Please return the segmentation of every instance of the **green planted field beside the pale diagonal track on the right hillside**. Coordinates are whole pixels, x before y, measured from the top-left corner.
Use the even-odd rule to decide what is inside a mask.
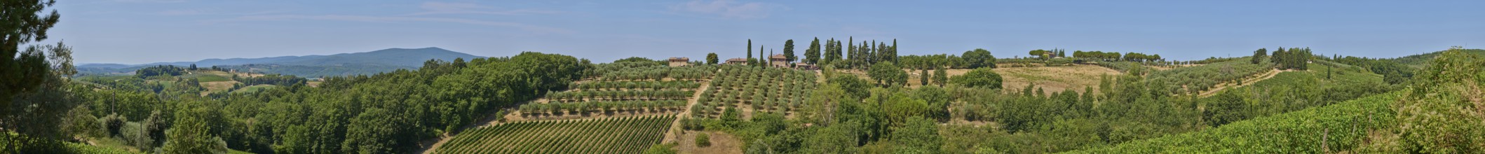
[[[1172,84],[1170,93],[1200,93],[1216,84],[1243,80],[1244,77],[1273,70],[1273,64],[1250,64],[1247,61],[1227,61],[1200,67],[1182,67],[1149,74],[1149,80]]]

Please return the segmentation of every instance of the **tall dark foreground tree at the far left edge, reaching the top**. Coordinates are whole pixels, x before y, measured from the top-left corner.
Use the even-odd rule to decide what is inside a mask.
[[[74,105],[65,101],[62,89],[67,81],[59,76],[71,76],[71,47],[22,44],[46,40],[46,31],[61,18],[52,7],[53,0],[7,0],[0,7],[0,129],[37,138],[59,138],[59,121]],[[49,56],[50,55],[50,56]],[[58,93],[61,92],[61,93]],[[21,107],[21,108],[18,108]],[[25,108],[39,107],[39,108]],[[4,138],[0,138],[4,139]],[[21,139],[4,139],[4,150],[18,145]],[[12,151],[16,153],[16,151]]]

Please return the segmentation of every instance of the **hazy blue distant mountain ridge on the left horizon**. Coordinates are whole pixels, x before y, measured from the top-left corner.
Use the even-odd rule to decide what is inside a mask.
[[[148,65],[192,65],[196,67],[212,67],[212,65],[247,65],[247,64],[269,64],[269,65],[388,65],[388,67],[422,67],[428,59],[443,59],[453,61],[456,58],[474,59],[484,58],[469,53],[460,53],[453,50],[446,50],[440,47],[422,47],[422,49],[382,49],[373,52],[358,52],[358,53],[336,53],[336,55],[307,55],[307,56],[272,56],[272,58],[227,58],[227,59],[202,59],[195,62],[153,62],[153,64],[83,64],[77,68],[129,68],[129,67],[148,67]]]

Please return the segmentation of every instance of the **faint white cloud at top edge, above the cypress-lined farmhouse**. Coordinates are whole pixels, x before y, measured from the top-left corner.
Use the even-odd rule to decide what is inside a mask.
[[[670,10],[676,12],[692,12],[692,13],[708,13],[719,15],[722,18],[737,18],[737,19],[754,19],[768,18],[769,12],[780,9],[783,6],[771,3],[737,3],[732,0],[692,0],[688,3],[673,4]]]

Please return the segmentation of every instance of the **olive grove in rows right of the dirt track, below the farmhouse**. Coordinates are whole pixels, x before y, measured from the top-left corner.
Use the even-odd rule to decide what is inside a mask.
[[[693,117],[716,117],[726,107],[747,105],[757,111],[787,113],[805,101],[815,87],[812,71],[723,65],[711,87],[692,107]]]

